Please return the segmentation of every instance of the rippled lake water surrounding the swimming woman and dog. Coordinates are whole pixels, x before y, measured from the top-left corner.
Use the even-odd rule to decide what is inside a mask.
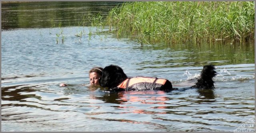
[[[254,119],[254,42],[142,47],[76,25],[83,14],[107,14],[116,4],[2,4],[2,131],[237,131]],[[56,44],[60,28],[52,19],[63,20],[64,43],[60,35]],[[128,76],[167,78],[179,90],[106,93],[90,87],[90,68],[110,64]],[[217,67],[216,88],[189,89],[206,64]]]

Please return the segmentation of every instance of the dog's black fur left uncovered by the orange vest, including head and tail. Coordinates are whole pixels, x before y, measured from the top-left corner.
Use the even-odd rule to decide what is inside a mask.
[[[205,65],[200,74],[200,78],[198,79],[194,86],[191,86],[191,88],[214,88],[214,81],[212,80],[212,78],[214,78],[217,75],[215,69],[216,68],[214,65]],[[106,66],[102,71],[102,77],[100,78],[100,86],[108,87],[110,89],[115,88],[124,80],[126,80],[126,78],[126,74],[119,66]],[[170,85],[168,90],[173,90],[172,85]]]

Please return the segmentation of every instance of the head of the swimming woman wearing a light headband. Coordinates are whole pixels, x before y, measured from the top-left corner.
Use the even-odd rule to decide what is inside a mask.
[[[99,78],[102,76],[101,67],[94,67],[89,71],[90,84],[99,85]]]

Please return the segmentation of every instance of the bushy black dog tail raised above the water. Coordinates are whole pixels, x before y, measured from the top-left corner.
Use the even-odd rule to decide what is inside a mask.
[[[192,86],[192,88],[202,88],[202,89],[212,89],[214,88],[214,78],[217,75],[215,71],[216,67],[214,65],[205,65],[200,78],[197,80],[196,85]]]

